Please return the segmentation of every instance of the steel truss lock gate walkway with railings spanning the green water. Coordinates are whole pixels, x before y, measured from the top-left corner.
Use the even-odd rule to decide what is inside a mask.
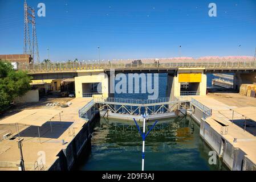
[[[79,109],[79,117],[83,119],[87,118],[87,112],[91,109],[95,104],[100,104],[99,109],[103,109],[107,107],[107,109],[113,111],[114,113],[129,113],[135,114],[137,111],[138,114],[141,114],[141,108],[144,107],[146,113],[157,114],[164,112],[172,112],[174,109],[178,109],[178,107],[186,107],[186,104],[191,102],[194,106],[198,107],[203,113],[204,117],[210,117],[212,115],[212,109],[201,104],[197,100],[191,98],[191,101],[188,100],[179,100],[174,97],[173,100],[170,100],[169,97],[158,98],[156,100],[140,100],[140,99],[129,99],[129,98],[94,98],[87,105]]]

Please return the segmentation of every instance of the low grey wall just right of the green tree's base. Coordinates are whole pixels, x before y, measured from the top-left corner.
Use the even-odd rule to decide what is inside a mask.
[[[15,104],[24,104],[28,102],[38,102],[39,101],[39,91],[38,90],[29,90],[22,97],[17,97],[14,100]]]

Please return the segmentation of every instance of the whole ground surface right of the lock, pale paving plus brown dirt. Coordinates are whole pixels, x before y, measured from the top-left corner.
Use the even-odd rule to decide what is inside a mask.
[[[234,147],[243,150],[248,158],[256,163],[256,122],[246,120],[241,114],[234,113],[230,109],[234,107],[256,106],[256,98],[241,96],[237,93],[211,93],[208,96],[196,96],[196,100],[213,109],[212,118],[216,117],[227,123],[227,134],[221,134],[221,125],[212,118],[208,118],[207,122],[227,141],[232,143]],[[256,113],[255,113],[256,114]],[[234,123],[232,123],[234,119]],[[237,138],[237,143],[234,143]]]

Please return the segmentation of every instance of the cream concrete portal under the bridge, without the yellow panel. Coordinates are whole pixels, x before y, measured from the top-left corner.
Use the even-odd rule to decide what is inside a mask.
[[[108,76],[103,70],[78,71],[78,77],[75,77],[76,97],[83,97],[83,84],[101,82],[102,96],[108,97]]]

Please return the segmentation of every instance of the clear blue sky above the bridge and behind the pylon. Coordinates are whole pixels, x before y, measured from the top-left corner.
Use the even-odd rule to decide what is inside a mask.
[[[36,16],[40,60],[253,56],[255,0],[27,0]],[[217,5],[217,17],[208,5]],[[23,1],[0,0],[0,54],[23,53]],[[238,47],[241,45],[241,47]],[[178,46],[181,47],[179,53]]]

